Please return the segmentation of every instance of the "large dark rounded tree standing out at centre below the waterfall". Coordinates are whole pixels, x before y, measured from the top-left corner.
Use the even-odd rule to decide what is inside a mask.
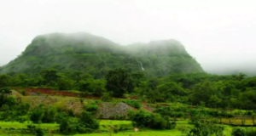
[[[123,97],[125,93],[131,93],[134,89],[131,73],[124,68],[108,71],[105,88],[113,92],[114,97]]]

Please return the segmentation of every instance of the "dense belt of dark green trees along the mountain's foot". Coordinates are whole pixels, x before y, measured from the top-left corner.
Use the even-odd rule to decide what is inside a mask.
[[[81,94],[102,97],[103,101],[110,101],[111,96],[124,97],[124,94],[132,94],[148,103],[179,102],[187,105],[203,104],[209,108],[243,110],[256,108],[256,77],[246,78],[243,74],[216,76],[190,73],[148,77],[141,72],[117,68],[108,71],[105,79],[94,79],[88,73],[45,69],[37,76],[0,75],[0,80],[0,107],[5,103],[13,103],[9,98],[9,87],[38,87],[79,90]],[[133,102],[126,103],[139,108],[139,105]]]

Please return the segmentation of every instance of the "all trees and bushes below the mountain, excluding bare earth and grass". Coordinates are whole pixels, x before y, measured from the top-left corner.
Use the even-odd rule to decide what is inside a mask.
[[[218,135],[224,132],[224,127],[218,126],[222,118],[230,120],[235,116],[252,116],[252,125],[254,125],[255,80],[256,77],[247,77],[242,73],[230,76],[180,73],[166,77],[148,77],[143,72],[131,72],[125,68],[108,71],[106,77],[102,79],[95,79],[89,73],[60,72],[54,69],[45,69],[34,77],[26,74],[1,75],[0,119],[4,122],[60,124],[58,129],[53,130],[54,133],[96,133],[100,129],[97,119],[101,117],[95,116],[99,104],[123,102],[137,110],[128,111],[125,116],[112,116],[109,119],[131,121],[132,126],[138,128],[172,130],[177,129],[175,127],[177,127],[178,119],[189,118],[189,122],[195,127],[190,128],[188,135],[200,135],[196,133]],[[31,103],[22,102],[22,99],[11,95],[15,90],[26,96],[26,89],[22,88],[52,88],[59,91],[77,92],[80,94],[80,103],[84,105],[83,110],[74,113],[70,109],[51,105],[38,105],[32,108]],[[99,99],[84,103],[84,97],[86,98],[87,95]],[[127,99],[131,96],[136,96],[138,99]],[[144,111],[143,103],[154,107],[154,111]],[[175,105],[176,108],[174,108],[173,105],[160,104],[179,105]],[[189,109],[189,106],[194,108]],[[218,109],[218,111],[208,109]],[[233,112],[235,110],[239,111]],[[246,120],[241,118],[241,126],[246,126]],[[229,121],[228,124],[232,122]],[[181,132],[186,129],[186,127],[178,128]],[[129,130],[129,127],[110,127],[108,132],[118,133],[126,129]],[[44,131],[38,126],[27,125],[27,129],[24,129],[22,133],[40,135],[40,133],[45,133]],[[236,128],[233,130],[233,133],[253,132],[255,134],[255,131],[251,129]]]

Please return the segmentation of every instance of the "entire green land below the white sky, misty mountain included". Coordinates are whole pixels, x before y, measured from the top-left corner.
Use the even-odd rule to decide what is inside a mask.
[[[174,40],[38,36],[0,73],[0,134],[255,135],[256,77],[207,74]]]

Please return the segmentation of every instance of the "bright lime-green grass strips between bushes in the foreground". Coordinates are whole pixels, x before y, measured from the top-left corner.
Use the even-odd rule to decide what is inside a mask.
[[[102,126],[108,126],[108,125],[128,125],[131,126],[131,122],[130,121],[113,121],[113,120],[100,120],[99,121],[101,124],[100,130],[105,130],[104,133],[89,133],[89,134],[75,134],[75,136],[109,136],[110,133],[106,132],[106,130],[108,130],[106,127],[102,127]],[[13,127],[15,129],[19,129],[19,128],[26,128],[26,126],[28,124],[32,124],[24,122],[24,123],[20,123],[20,122],[0,122],[0,127],[2,127],[2,129],[0,129],[0,136],[2,135],[6,135],[9,133],[9,136],[18,136],[21,135],[20,133],[10,133],[9,131],[5,130],[4,128],[10,128]],[[43,124],[33,124],[36,125],[38,127],[44,128],[44,129],[50,129],[50,130],[54,130],[54,129],[58,129],[59,125],[58,124],[50,124],[50,123],[43,123]],[[176,129],[173,130],[150,130],[150,129],[145,129],[142,130],[141,132],[135,133],[131,130],[128,131],[120,131],[119,133],[112,133],[112,136],[181,136],[183,133],[181,133],[178,130],[178,127],[180,126],[186,126],[186,127],[193,127],[193,125],[188,124],[188,121],[180,121],[177,122],[177,127]],[[230,126],[226,126],[224,125],[225,129],[224,129],[224,133],[225,136],[230,136],[230,133],[232,131],[233,127]],[[23,134],[24,135],[24,134]],[[49,135],[49,133],[45,133],[45,135]],[[54,135],[59,135],[61,136],[61,134],[54,134]],[[26,136],[26,135],[25,135]]]

